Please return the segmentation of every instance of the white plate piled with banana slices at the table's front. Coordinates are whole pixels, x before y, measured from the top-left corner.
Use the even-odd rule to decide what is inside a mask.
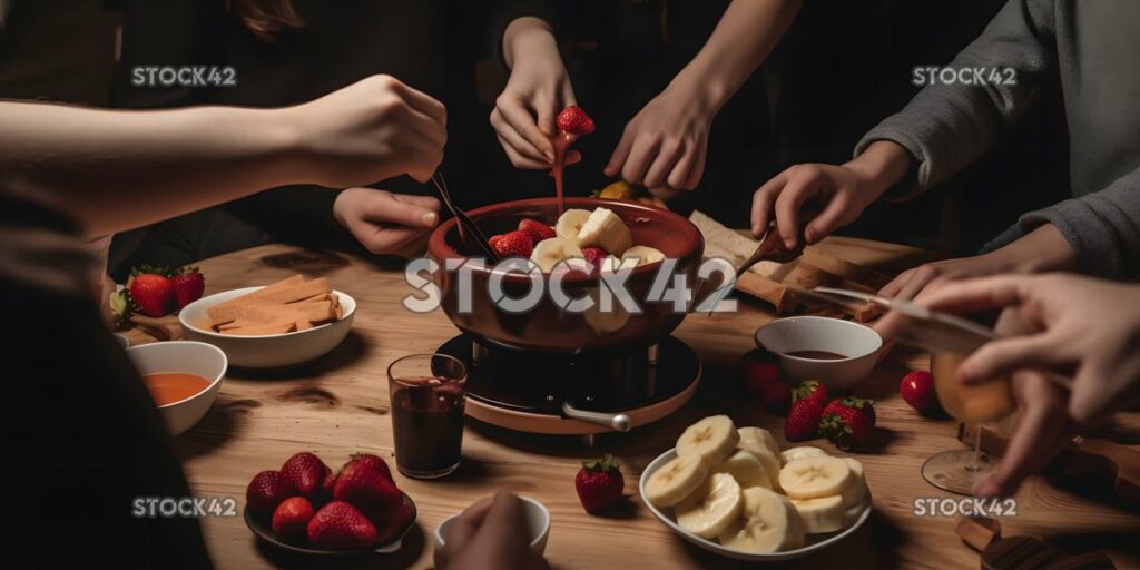
[[[806,556],[866,522],[863,465],[817,447],[781,450],[771,432],[728,416],[690,425],[642,473],[642,502],[685,540],[748,561]]]

